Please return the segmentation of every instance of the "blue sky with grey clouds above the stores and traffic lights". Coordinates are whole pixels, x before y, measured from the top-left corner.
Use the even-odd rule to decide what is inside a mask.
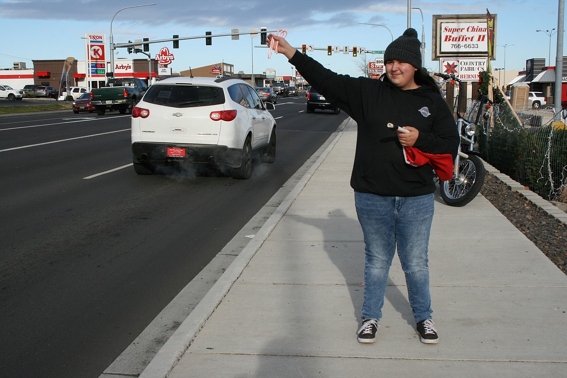
[[[151,3],[141,1],[109,0],[0,0],[0,67],[11,67],[12,62],[65,59],[72,56],[84,60],[84,33],[104,33],[107,42],[112,16],[121,8]],[[269,30],[286,29],[287,40],[294,46],[312,44],[317,48],[327,45],[362,46],[367,50],[383,50],[407,27],[407,0],[154,0],[157,5],[126,9],[116,15],[112,23],[115,43],[142,39],[161,40],[177,34],[180,37],[230,33],[232,28],[248,32],[251,28],[268,27]],[[496,57],[492,67],[504,66],[506,70],[524,70],[529,58],[545,58],[549,53],[550,38],[536,29],[557,29],[558,0],[492,0],[444,1],[413,0],[411,7],[423,12],[425,24],[426,66],[438,70],[438,62],[431,61],[431,19],[434,14],[497,14]],[[382,24],[383,27],[359,23]],[[411,24],[421,39],[422,20],[418,10],[411,12]],[[557,35],[551,37],[551,65],[555,65]],[[204,40],[180,41],[180,48],[171,43],[153,44],[152,57],[167,46],[174,53],[170,65],[174,71],[187,70],[224,61],[235,66],[235,71],[252,71],[252,55],[255,73],[267,68],[276,75],[293,73],[285,57],[272,55],[267,49],[255,48],[260,39],[240,36],[213,39],[212,46]],[[506,48],[498,45],[508,45]],[[108,45],[107,45],[108,48]],[[119,58],[146,58],[142,54],[128,54],[118,49]],[[107,50],[108,54],[108,50]],[[567,54],[567,51],[564,51]],[[326,52],[312,54],[316,60],[342,74],[359,76],[350,55]],[[373,56],[377,57],[377,56]]]

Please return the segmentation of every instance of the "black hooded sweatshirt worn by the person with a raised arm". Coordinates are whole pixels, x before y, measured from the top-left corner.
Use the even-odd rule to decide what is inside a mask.
[[[419,130],[413,147],[423,152],[455,157],[460,137],[441,95],[427,86],[401,90],[387,80],[339,75],[299,52],[289,62],[321,95],[357,122],[350,178],[354,190],[397,197],[435,192],[431,167],[405,163],[396,131],[387,124]]]

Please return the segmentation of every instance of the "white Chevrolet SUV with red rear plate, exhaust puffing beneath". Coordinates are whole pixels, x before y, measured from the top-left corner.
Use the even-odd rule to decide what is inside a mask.
[[[252,154],[276,160],[276,121],[255,89],[240,78],[172,77],[153,84],[132,109],[134,170],[184,162],[252,175]]]

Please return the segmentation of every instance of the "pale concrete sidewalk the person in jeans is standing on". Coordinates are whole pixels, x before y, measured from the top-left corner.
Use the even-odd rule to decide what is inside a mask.
[[[396,258],[377,341],[357,342],[355,143],[349,120],[140,377],[565,376],[567,276],[482,196],[465,207],[436,197],[441,341],[419,341]]]

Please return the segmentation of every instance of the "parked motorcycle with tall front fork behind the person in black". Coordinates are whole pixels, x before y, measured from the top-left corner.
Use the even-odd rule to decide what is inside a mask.
[[[461,141],[453,165],[453,178],[448,181],[439,180],[439,186],[441,187],[441,198],[443,198],[443,201],[449,206],[460,207],[471,202],[479,194],[484,184],[486,169],[483,161],[479,158],[480,152],[475,150],[477,141],[476,125],[479,123],[485,106],[490,107],[492,102],[486,96],[481,97],[475,122],[471,122],[460,114],[461,98],[464,94],[463,82],[456,78],[454,74],[435,73],[434,75],[441,77],[444,82],[450,82],[451,84],[459,83],[456,127]]]

